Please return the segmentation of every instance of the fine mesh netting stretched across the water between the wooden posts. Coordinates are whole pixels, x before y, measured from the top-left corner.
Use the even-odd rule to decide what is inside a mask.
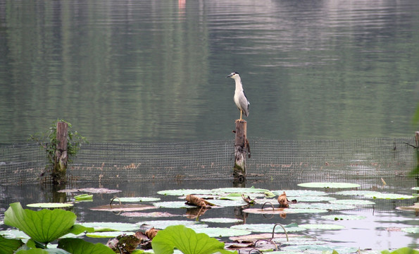
[[[247,179],[406,176],[415,167],[414,138],[250,140]],[[232,179],[234,141],[83,145],[69,181]],[[38,145],[0,146],[0,183],[50,181]]]

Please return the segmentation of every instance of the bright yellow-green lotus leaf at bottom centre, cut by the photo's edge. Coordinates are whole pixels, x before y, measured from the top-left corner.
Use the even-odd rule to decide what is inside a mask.
[[[151,242],[154,253],[171,254],[177,248],[185,254],[233,253],[224,249],[224,243],[206,234],[196,234],[185,226],[168,226],[159,231]],[[237,253],[237,252],[234,252]]]

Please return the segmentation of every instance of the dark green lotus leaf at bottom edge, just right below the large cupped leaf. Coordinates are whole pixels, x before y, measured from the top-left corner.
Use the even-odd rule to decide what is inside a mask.
[[[72,254],[115,254],[111,248],[102,243],[89,243],[77,238],[64,238],[58,241],[58,248]]]

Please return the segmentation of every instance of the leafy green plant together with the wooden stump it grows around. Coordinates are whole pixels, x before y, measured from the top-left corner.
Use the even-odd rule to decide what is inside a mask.
[[[73,162],[82,143],[87,143],[85,137],[79,135],[77,131],[73,132],[71,128],[71,123],[57,119],[48,131],[30,135],[30,140],[39,144],[48,158],[49,163],[45,165],[45,171],[41,176],[51,172],[54,184],[65,183],[68,163]]]

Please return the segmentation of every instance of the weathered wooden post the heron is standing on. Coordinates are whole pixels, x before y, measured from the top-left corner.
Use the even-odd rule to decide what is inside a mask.
[[[246,128],[247,122],[236,121],[236,137],[234,139],[234,181],[246,180]]]

